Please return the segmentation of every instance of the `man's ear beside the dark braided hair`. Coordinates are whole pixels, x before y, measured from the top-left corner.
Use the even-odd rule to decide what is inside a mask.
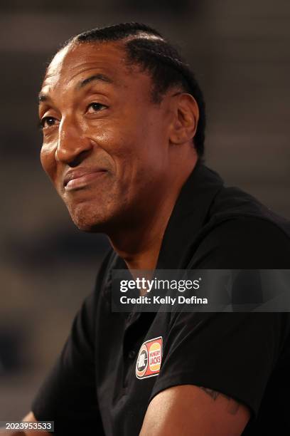
[[[188,93],[171,96],[172,121],[169,140],[172,144],[183,144],[193,139],[198,126],[199,110],[195,98]]]

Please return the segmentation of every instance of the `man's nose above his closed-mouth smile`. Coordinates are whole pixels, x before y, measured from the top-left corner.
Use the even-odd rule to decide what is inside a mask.
[[[58,131],[58,147],[55,150],[55,160],[72,167],[90,153],[92,141],[73,118],[63,118]]]

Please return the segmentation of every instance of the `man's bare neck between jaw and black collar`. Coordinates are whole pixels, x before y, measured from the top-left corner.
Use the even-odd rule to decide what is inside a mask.
[[[151,207],[150,213],[147,209],[146,214],[139,214],[141,219],[131,222],[126,229],[123,228],[115,234],[108,235],[114,251],[124,259],[130,271],[156,269],[168,220],[181,188],[195,164],[196,160],[191,161],[186,171],[183,168],[183,171],[178,172],[176,177],[166,184],[166,189],[159,197],[159,202]]]

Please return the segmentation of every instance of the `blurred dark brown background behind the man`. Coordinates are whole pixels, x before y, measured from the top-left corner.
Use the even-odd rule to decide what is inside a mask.
[[[290,217],[289,19],[288,0],[1,2],[0,420],[28,411],[107,245],[75,229],[38,162],[49,58],[88,28],[156,27],[204,90],[208,165]]]

